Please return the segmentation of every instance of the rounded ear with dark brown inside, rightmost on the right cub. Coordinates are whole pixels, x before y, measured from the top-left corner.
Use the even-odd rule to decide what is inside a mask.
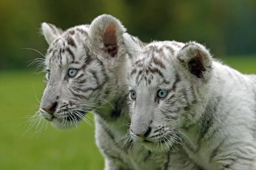
[[[177,58],[192,75],[207,79],[212,69],[212,56],[203,45],[189,42],[177,54]]]

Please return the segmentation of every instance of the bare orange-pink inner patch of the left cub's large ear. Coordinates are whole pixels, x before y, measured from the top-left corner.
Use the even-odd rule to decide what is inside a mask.
[[[110,25],[104,33],[104,45],[106,48],[106,52],[108,52],[111,57],[115,57],[115,55],[117,54],[116,41],[116,27],[114,25]]]

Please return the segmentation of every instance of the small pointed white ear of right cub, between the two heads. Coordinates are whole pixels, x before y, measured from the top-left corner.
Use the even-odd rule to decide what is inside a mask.
[[[142,42],[138,37],[124,34],[125,47],[127,49],[127,54],[132,61],[135,61],[138,54],[147,45],[147,43]]]

